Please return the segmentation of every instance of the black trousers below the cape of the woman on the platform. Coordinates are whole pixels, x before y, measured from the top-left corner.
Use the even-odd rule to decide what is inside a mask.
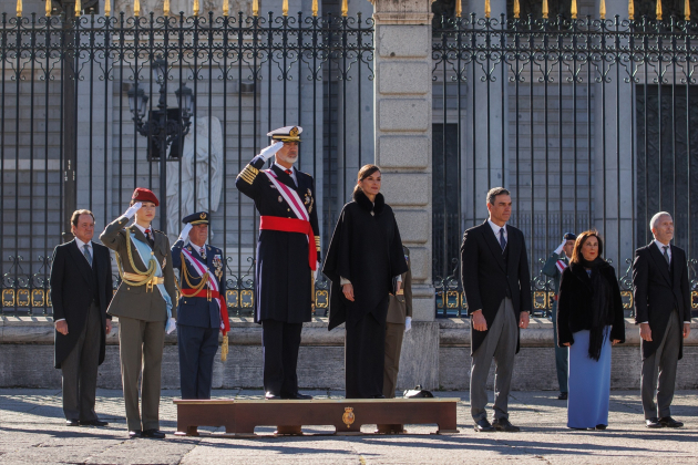
[[[347,321],[345,376],[347,399],[371,399],[383,394],[386,318],[388,296],[356,323]],[[378,321],[376,314],[383,316]]]

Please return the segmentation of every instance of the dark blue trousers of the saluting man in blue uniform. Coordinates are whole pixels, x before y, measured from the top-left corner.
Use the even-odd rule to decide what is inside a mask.
[[[218,328],[177,324],[182,399],[211,399]]]

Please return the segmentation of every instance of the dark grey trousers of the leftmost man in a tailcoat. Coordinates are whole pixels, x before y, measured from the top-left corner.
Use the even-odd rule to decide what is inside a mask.
[[[83,422],[97,420],[94,413],[96,396],[100,344],[102,342],[102,316],[96,303],[90,304],[84,328],[75,347],[61,363],[63,372],[63,413],[68,420]]]

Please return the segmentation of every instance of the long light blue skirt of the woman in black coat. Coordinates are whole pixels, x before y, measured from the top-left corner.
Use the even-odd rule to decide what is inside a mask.
[[[589,358],[589,332],[574,333],[574,344],[569,347],[567,427],[608,425],[610,329],[607,334],[597,362]]]

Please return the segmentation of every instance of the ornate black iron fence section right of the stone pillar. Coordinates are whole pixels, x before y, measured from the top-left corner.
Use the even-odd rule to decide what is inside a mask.
[[[444,16],[437,24],[437,314],[466,307],[460,238],[486,218],[494,186],[512,192],[511,224],[526,236],[534,311],[551,309],[552,279],[540,270],[563,234],[596,228],[629,312],[633,252],[651,240],[659,210],[688,252],[698,309],[698,23]]]

